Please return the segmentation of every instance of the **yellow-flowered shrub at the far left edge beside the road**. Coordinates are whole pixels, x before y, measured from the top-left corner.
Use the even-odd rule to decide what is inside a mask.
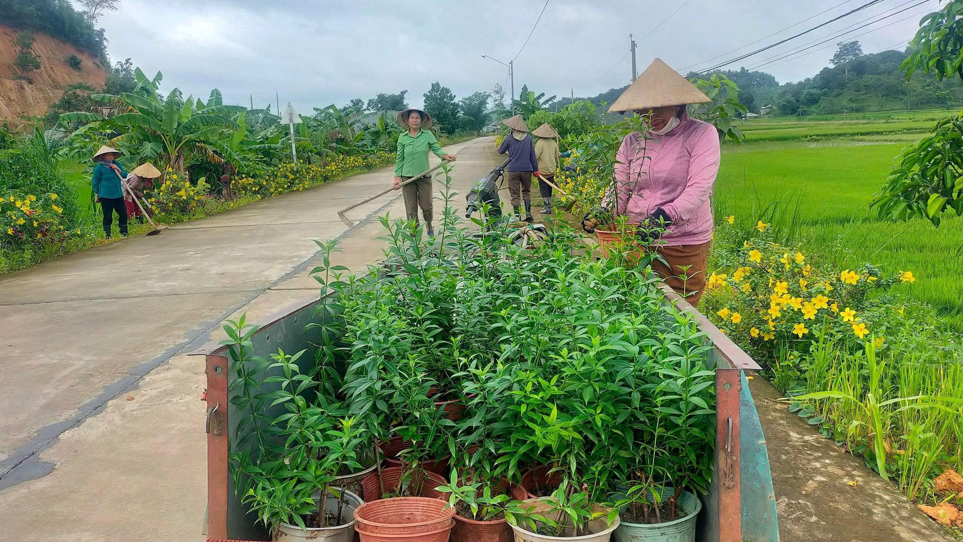
[[[62,243],[80,234],[70,224],[58,198],[55,193],[0,192],[0,244],[22,248]]]

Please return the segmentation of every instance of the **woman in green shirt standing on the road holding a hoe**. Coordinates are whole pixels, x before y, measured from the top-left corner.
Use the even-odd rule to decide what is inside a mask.
[[[395,158],[395,183],[398,190],[402,182],[424,173],[429,169],[428,151],[434,152],[442,160],[455,161],[454,154],[445,154],[438,145],[434,134],[428,131],[431,117],[420,109],[405,109],[398,114],[398,123],[407,131],[398,137],[398,154]],[[425,216],[425,226],[429,236],[434,235],[431,226],[431,177],[425,176],[403,186],[404,212],[408,220],[418,225],[418,207]]]

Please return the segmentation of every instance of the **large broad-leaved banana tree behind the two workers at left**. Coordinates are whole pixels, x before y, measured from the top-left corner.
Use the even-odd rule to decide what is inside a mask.
[[[138,70],[140,74],[140,70]],[[141,74],[143,75],[143,74]],[[244,107],[224,105],[221,91],[211,91],[207,103],[193,96],[183,97],[173,89],[163,100],[157,94],[160,73],[154,80],[139,77],[135,93],[91,95],[92,99],[111,104],[119,114],[108,117],[97,113],[73,112],[61,116],[63,122],[85,122],[77,132],[91,129],[112,134],[111,143],[156,159],[175,171],[184,170],[188,152],[205,145],[217,145],[222,130],[239,130],[231,117]],[[92,124],[92,128],[89,127]],[[77,133],[75,132],[75,133]]]

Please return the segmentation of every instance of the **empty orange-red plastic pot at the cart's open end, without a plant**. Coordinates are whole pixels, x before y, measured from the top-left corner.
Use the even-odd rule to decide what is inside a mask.
[[[448,542],[455,508],[424,497],[365,502],[354,510],[361,542]]]

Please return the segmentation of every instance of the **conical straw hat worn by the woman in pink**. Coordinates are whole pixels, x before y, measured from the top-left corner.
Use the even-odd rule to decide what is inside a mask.
[[[676,70],[669,68],[662,59],[656,59],[622,95],[618,96],[618,99],[612,102],[609,111],[623,113],[711,101],[709,96],[696,89]]]

